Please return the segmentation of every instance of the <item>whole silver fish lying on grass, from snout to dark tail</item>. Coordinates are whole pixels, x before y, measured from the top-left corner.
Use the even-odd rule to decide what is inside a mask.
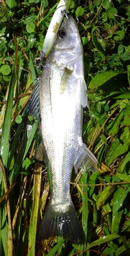
[[[88,105],[83,47],[77,24],[65,18],[31,97],[29,111],[39,118],[52,191],[38,229],[38,240],[59,236],[84,244],[85,236],[71,194],[72,169],[97,169],[97,159],[82,141],[83,107]],[[40,102],[40,103],[39,103]]]

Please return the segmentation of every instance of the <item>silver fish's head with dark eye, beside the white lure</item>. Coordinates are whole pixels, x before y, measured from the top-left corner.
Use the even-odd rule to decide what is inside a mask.
[[[77,24],[72,16],[65,18],[59,31],[53,50],[51,60],[60,69],[64,69],[70,62],[76,60],[82,52],[82,44]]]

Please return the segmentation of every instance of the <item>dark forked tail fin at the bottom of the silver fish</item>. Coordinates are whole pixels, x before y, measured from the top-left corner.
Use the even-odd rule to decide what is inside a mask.
[[[66,212],[61,209],[55,211],[51,204],[48,205],[39,226],[38,240],[55,236],[70,240],[74,244],[84,244],[84,232],[73,205]]]

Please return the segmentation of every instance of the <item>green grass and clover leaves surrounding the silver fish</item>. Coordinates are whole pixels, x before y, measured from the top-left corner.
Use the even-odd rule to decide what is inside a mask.
[[[73,174],[71,180],[86,244],[71,245],[62,238],[36,241],[50,191],[46,165],[35,161],[39,126],[27,117],[27,103],[41,74],[39,54],[55,8],[56,2],[48,0],[0,3],[0,255],[128,256],[130,8],[126,0],[68,0],[68,15],[76,13],[79,19],[89,89],[83,141],[97,157],[99,171]]]

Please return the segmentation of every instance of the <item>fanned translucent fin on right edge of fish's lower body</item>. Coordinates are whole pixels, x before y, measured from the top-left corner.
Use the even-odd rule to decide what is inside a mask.
[[[85,167],[85,170],[98,170],[97,168],[98,161],[93,153],[86,147],[85,144],[82,144],[78,147],[77,155],[74,160],[75,172],[77,170],[82,170]]]

